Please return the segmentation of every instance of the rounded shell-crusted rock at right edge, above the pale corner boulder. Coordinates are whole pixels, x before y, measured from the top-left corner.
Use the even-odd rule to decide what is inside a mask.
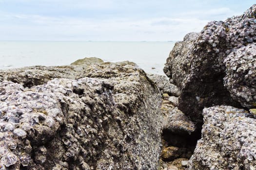
[[[256,107],[256,43],[231,52],[224,63],[224,85],[233,99],[244,107]]]

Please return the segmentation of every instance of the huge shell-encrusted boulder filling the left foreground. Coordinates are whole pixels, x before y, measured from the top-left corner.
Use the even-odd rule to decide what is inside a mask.
[[[161,95],[135,64],[12,69],[0,82],[2,169],[158,168]]]

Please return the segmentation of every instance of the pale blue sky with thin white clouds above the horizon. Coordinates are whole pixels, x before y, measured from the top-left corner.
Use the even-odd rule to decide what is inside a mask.
[[[177,41],[254,0],[0,0],[0,40]]]

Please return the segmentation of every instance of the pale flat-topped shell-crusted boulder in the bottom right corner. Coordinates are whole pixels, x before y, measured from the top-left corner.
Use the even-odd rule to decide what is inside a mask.
[[[243,109],[214,106],[203,110],[202,138],[189,170],[252,170],[256,167],[256,119]]]

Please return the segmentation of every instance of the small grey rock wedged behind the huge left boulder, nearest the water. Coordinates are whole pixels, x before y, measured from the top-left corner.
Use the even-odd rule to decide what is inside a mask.
[[[147,76],[158,86],[161,94],[167,93],[169,96],[176,96],[180,95],[179,88],[171,84],[170,81],[166,76],[157,75],[157,74],[147,74]]]

